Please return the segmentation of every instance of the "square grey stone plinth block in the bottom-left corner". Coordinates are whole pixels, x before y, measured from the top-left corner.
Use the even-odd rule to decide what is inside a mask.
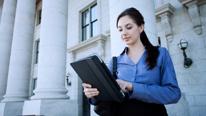
[[[0,103],[0,116],[18,116],[22,114],[24,102]]]

